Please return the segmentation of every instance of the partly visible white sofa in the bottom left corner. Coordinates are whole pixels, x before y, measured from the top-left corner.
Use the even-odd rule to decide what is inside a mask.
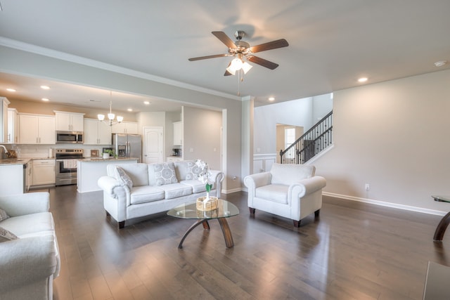
[[[0,209],[0,299],[53,299],[60,255],[49,193],[0,196]]]

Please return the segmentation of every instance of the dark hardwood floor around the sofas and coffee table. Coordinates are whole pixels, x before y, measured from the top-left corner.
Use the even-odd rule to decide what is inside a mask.
[[[193,221],[165,213],[122,230],[102,193],[51,188],[61,254],[53,299],[422,299],[428,261],[450,266],[450,233],[432,241],[440,216],[323,197],[294,228],[256,211],[246,193],[224,195],[235,246],[210,221],[177,246]],[[430,201],[432,201],[430,199]],[[450,209],[450,206],[449,206]]]

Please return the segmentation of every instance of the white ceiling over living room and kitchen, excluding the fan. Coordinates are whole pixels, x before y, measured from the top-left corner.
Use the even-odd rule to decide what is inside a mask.
[[[366,84],[435,72],[450,60],[448,0],[0,0],[0,38],[89,58],[236,98],[238,78],[224,77],[231,58],[189,62],[226,53],[212,31],[244,30],[251,46],[284,38],[289,46],[257,53],[278,63],[276,70],[254,65],[240,82],[240,96],[257,105],[294,100]],[[0,39],[1,41],[1,39]],[[1,71],[1,66],[0,66]],[[39,100],[40,79],[0,74],[0,96],[10,84],[15,98]],[[96,105],[109,91],[49,82],[49,98]],[[39,96],[38,96],[39,95]],[[136,97],[134,111],[164,110],[142,95],[113,93],[113,100]],[[152,105],[138,105],[150,99]],[[134,103],[134,102],[133,102]],[[97,103],[98,104],[98,103]],[[180,103],[171,103],[174,110]],[[116,106],[116,104],[114,104]],[[104,106],[104,103],[102,104]],[[139,106],[139,107],[138,107]]]

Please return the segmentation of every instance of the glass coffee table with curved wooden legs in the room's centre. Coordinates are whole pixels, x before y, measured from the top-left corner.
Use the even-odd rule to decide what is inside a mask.
[[[226,218],[231,216],[237,216],[239,214],[239,209],[231,202],[226,200],[218,199],[217,209],[213,209],[211,211],[202,211],[197,209],[197,202],[186,202],[184,204],[180,204],[173,209],[167,211],[168,216],[173,216],[179,219],[193,219],[197,220],[192,224],[191,227],[186,230],[183,237],[181,238],[181,242],[179,243],[179,249],[183,248],[184,239],[188,236],[191,231],[203,224],[203,229],[210,230],[210,224],[208,220],[217,219],[219,221],[220,227],[222,229],[222,233],[224,233],[225,244],[227,248],[231,248],[234,246],[233,236],[231,235],[230,226],[226,221]]]

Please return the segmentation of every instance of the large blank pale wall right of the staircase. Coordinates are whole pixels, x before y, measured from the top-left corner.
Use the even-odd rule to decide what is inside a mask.
[[[317,159],[325,191],[449,211],[450,70],[334,93],[334,148]],[[366,192],[364,184],[371,189]]]

